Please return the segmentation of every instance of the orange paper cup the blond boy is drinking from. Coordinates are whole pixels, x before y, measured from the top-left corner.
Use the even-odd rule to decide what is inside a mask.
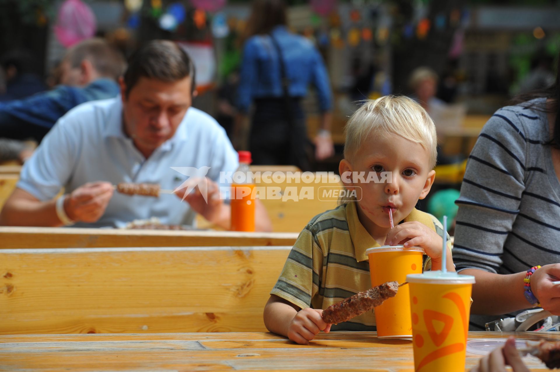
[[[371,286],[388,281],[406,281],[408,274],[422,273],[422,255],[419,247],[382,246],[369,248],[366,254],[370,260]],[[375,323],[379,338],[412,337],[410,323],[410,296],[407,285],[399,288],[393,298],[375,308]]]

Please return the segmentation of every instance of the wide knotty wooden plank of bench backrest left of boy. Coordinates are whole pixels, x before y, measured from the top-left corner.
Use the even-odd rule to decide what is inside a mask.
[[[265,331],[290,249],[3,249],[0,334]]]

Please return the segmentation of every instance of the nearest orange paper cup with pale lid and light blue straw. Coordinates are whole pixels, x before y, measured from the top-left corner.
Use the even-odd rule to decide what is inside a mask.
[[[414,370],[465,370],[470,294],[474,276],[427,271],[408,275]]]

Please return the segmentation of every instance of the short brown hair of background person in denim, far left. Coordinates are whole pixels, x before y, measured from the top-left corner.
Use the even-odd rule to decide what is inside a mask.
[[[123,76],[126,63],[120,51],[110,46],[104,39],[94,37],[70,48],[64,59],[72,68],[80,67],[84,59],[90,61],[97,73],[117,81]]]

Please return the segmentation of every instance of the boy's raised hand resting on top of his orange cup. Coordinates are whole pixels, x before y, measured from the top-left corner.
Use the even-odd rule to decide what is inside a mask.
[[[385,244],[396,246],[403,244],[405,248],[422,247],[426,255],[432,258],[432,262],[441,262],[441,247],[443,239],[431,228],[417,221],[405,222],[396,225],[389,234]]]

